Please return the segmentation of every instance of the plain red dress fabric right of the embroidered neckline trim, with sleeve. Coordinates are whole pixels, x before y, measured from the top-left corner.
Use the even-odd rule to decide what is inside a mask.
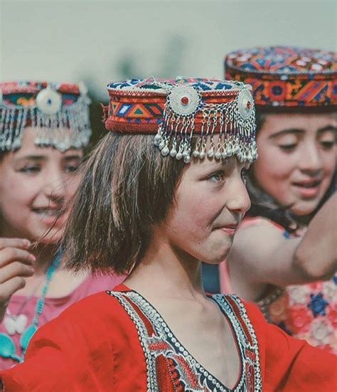
[[[263,391],[337,391],[336,356],[289,337],[267,323],[255,305],[245,306],[257,334]]]

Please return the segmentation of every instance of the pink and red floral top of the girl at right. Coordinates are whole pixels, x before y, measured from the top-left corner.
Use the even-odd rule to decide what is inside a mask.
[[[267,218],[245,218],[241,227],[269,221]],[[272,221],[270,224],[284,231]],[[220,287],[223,293],[232,293],[226,260],[220,264]],[[257,302],[268,322],[278,325],[297,339],[337,354],[337,275],[326,282],[307,285],[275,287],[263,300]]]

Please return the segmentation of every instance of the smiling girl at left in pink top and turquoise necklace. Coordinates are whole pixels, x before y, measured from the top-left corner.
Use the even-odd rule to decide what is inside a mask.
[[[38,327],[114,278],[65,271],[55,255],[90,138],[78,85],[0,83],[0,369]]]

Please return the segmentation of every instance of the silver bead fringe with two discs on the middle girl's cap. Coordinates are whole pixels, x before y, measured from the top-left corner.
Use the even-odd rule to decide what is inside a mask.
[[[203,120],[196,147],[191,152],[195,116],[199,111]],[[203,102],[192,86],[178,86],[168,93],[154,144],[164,157],[171,155],[185,163],[192,157],[225,159],[233,155],[240,161],[252,162],[257,158],[255,127],[255,108],[249,90],[242,88],[234,100],[219,105]]]

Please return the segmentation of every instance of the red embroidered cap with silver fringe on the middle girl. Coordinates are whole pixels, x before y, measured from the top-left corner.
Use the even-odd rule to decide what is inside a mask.
[[[132,79],[110,83],[105,127],[113,132],[156,134],[164,156],[240,161],[257,157],[251,87],[229,80]],[[197,136],[191,151],[191,139]],[[210,137],[206,151],[206,140]]]

